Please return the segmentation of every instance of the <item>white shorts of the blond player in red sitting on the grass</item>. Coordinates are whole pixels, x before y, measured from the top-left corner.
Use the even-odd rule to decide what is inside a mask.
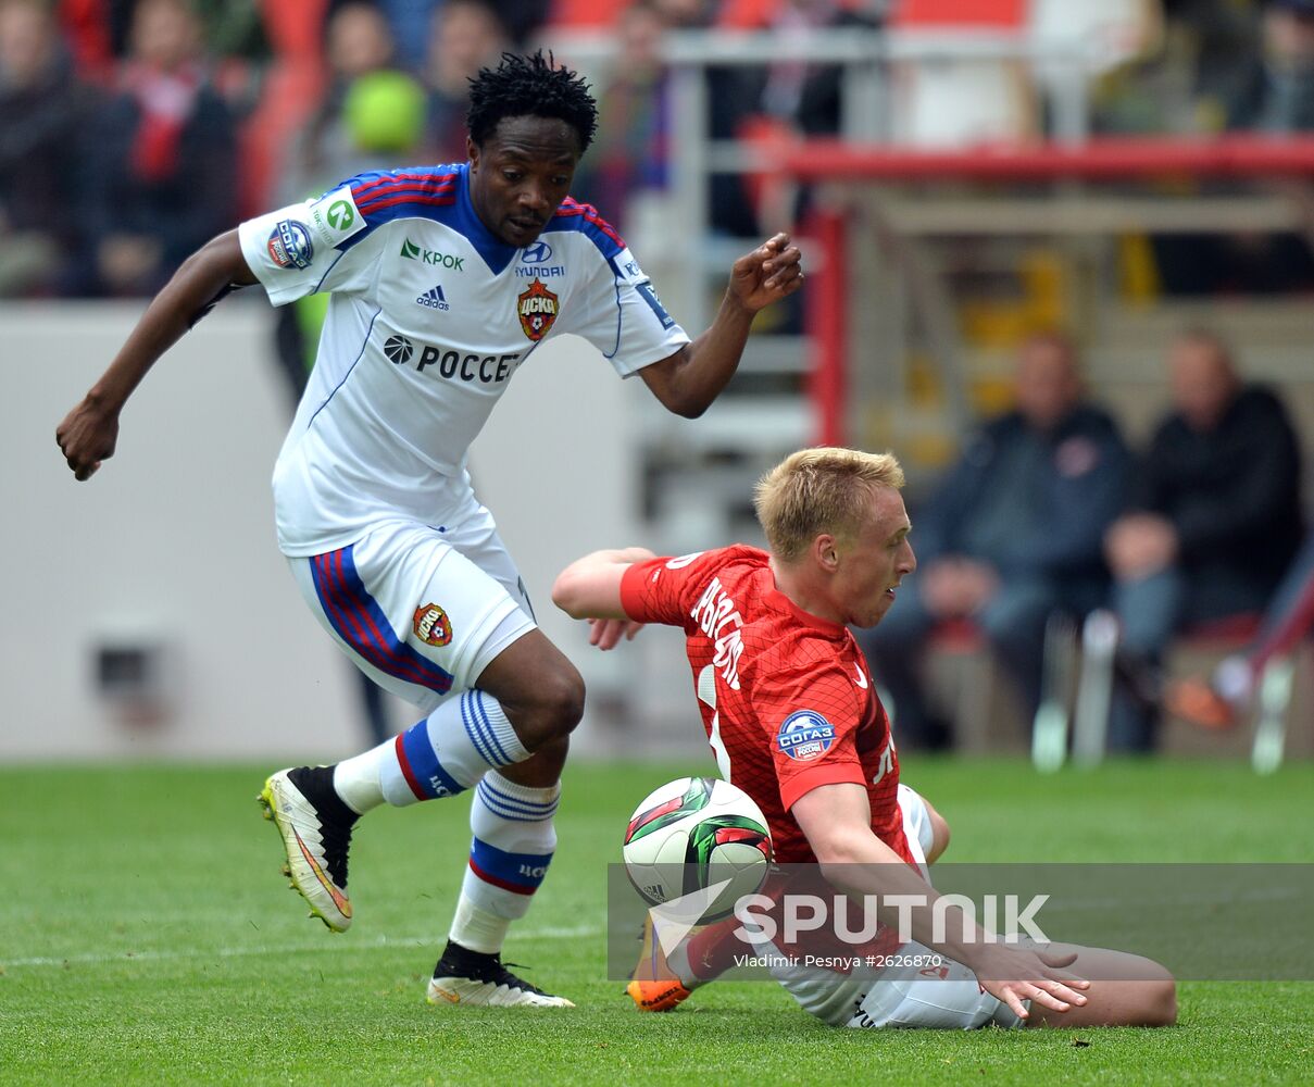
[[[900,785],[899,808],[908,845],[922,875],[929,877],[925,854],[932,845],[932,825],[926,802],[916,790]],[[757,950],[769,960],[782,958],[773,944],[757,945]],[[924,965],[933,961],[940,965]],[[917,942],[900,948],[895,962],[875,981],[870,975],[849,978],[786,965],[773,966],[771,973],[804,1011],[836,1027],[971,1030],[991,1024],[1022,1025],[1007,1004],[980,987],[971,970]]]

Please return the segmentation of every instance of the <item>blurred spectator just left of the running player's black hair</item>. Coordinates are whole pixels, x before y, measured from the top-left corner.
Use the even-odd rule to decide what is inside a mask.
[[[424,146],[428,162],[465,159],[470,79],[511,46],[497,11],[484,0],[447,0],[428,35]]]

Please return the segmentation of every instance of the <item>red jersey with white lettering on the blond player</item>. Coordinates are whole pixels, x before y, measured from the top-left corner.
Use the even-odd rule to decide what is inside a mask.
[[[723,777],[762,808],[777,861],[816,861],[790,808],[817,786],[851,782],[867,790],[876,837],[915,864],[899,756],[862,651],[846,627],[775,588],[765,551],[636,563],[620,599],[632,619],[683,628],[712,753]]]

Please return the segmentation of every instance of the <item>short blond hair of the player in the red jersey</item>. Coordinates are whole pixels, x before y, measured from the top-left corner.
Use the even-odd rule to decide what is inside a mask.
[[[823,446],[791,453],[762,476],[753,489],[753,509],[771,553],[792,563],[823,532],[855,536],[871,490],[897,490],[903,484],[894,453]]]

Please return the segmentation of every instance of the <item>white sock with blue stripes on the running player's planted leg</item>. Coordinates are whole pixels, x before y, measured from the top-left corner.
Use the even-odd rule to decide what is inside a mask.
[[[457,944],[502,949],[506,929],[528,911],[552,862],[560,797],[560,785],[533,789],[495,770],[484,775],[470,803],[470,861],[449,933]]]

